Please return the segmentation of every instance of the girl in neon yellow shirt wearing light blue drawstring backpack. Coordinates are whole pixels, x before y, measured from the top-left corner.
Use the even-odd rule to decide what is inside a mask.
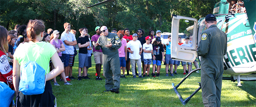
[[[26,29],[27,37],[30,39],[30,41],[17,47],[16,52],[13,55],[13,85],[15,87],[16,98],[18,98],[17,100],[19,100],[21,104],[19,106],[54,106],[55,96],[52,94],[51,82],[49,80],[53,79],[61,72],[63,72],[64,67],[61,63],[61,59],[59,58],[56,49],[50,43],[42,41],[44,37],[44,29],[45,26],[43,21],[30,20]],[[54,65],[54,69],[51,71],[49,71],[50,59],[52,60],[52,63]],[[36,62],[37,68],[41,68],[39,70],[45,71],[45,73],[42,72],[45,77],[45,81],[43,81],[44,79],[40,78],[35,79],[35,81],[33,82],[44,84],[44,90],[40,94],[25,95],[23,91],[19,90],[19,88],[23,87],[20,86],[20,84],[23,85],[24,78],[27,78],[30,74],[32,74],[27,73],[27,70],[23,70],[23,67],[26,66],[25,64],[29,62]],[[27,76],[23,76],[25,73],[27,73]],[[33,73],[37,73],[37,70],[33,71]],[[31,87],[33,87],[33,84],[26,85],[26,88],[28,89]],[[35,85],[34,87],[37,87],[37,85]]]

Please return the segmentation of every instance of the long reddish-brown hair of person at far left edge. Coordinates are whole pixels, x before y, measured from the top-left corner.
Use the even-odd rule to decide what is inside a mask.
[[[0,50],[5,53],[8,50],[8,42],[7,42],[8,31],[0,26]]]

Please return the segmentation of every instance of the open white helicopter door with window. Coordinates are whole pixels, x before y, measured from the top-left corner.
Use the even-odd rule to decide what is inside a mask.
[[[179,15],[172,15],[172,41],[171,41],[171,57],[174,60],[193,62],[196,58],[196,40],[197,40],[197,24],[198,20]],[[186,28],[193,26],[193,30],[187,31]],[[187,34],[188,37],[192,36],[192,47],[181,46],[178,44],[179,33]],[[193,36],[195,35],[195,36]],[[185,41],[185,38],[181,38]],[[181,40],[180,40],[181,41]],[[182,43],[184,43],[182,41]],[[184,43],[185,44],[185,43]]]

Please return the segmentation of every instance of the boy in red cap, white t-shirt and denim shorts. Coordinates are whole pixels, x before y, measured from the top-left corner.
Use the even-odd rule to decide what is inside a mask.
[[[148,71],[149,76],[149,70],[150,70],[150,64],[152,62],[152,52],[153,52],[153,46],[150,44],[151,38],[146,37],[146,43],[143,44],[143,58],[144,58],[144,70],[143,71]],[[148,69],[147,69],[148,67]],[[147,69],[147,70],[146,70]],[[143,77],[146,76],[146,72],[143,72]]]

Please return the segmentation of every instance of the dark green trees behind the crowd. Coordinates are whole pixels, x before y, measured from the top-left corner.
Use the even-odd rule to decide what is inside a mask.
[[[76,31],[86,27],[90,35],[96,26],[107,26],[109,30],[129,28],[131,34],[141,28],[171,32],[172,14],[192,18],[205,17],[212,13],[219,0],[116,0],[93,8],[90,5],[104,0],[1,0],[0,25],[8,30],[16,24],[27,24],[30,19],[44,21],[46,30],[64,31],[63,24],[70,23]],[[184,29],[188,26],[182,24]],[[76,37],[80,36],[78,33]]]

